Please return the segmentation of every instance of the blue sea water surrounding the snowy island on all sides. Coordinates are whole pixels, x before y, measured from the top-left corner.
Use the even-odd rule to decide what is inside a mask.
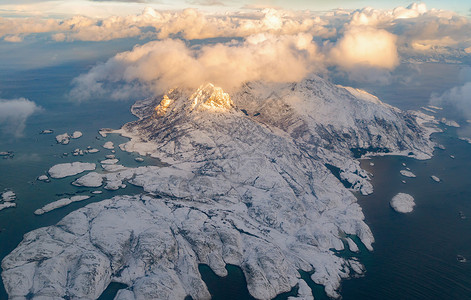
[[[0,98],[25,97],[43,108],[28,119],[22,137],[0,131],[0,151],[14,153],[13,158],[0,158],[0,191],[11,189],[17,195],[16,208],[0,211],[0,259],[18,245],[23,234],[31,230],[53,225],[68,213],[91,202],[119,194],[142,192],[141,188],[132,185],[118,191],[101,189],[103,194],[93,195],[88,200],[42,216],[33,214],[43,205],[63,197],[92,195],[90,192],[94,189],[70,184],[80,175],[51,180],[50,183],[37,181],[36,178],[58,163],[98,163],[105,159],[105,155],[111,152],[102,148],[105,139],[98,134],[98,130],[119,128],[135,119],[129,109],[133,100],[138,99],[128,102],[97,99],[82,103],[68,99],[71,80],[89,68],[90,63],[81,62],[35,70],[0,71]],[[437,78],[421,77],[418,83],[402,90],[375,85],[365,85],[363,88],[402,109],[419,109],[427,105],[431,92],[443,92],[458,82],[458,78],[452,78],[453,74],[457,74],[456,66],[435,64],[423,65],[422,68],[426,71],[424,73],[442,72],[451,77],[449,81],[435,83],[438,81],[435,75]],[[348,84],[340,79],[338,83]],[[450,119],[459,117],[445,110],[439,114]],[[373,252],[362,248],[358,254],[348,251],[339,253],[358,257],[367,270],[361,278],[343,281],[343,299],[471,299],[471,262],[457,260],[457,255],[462,255],[471,261],[471,144],[457,138],[462,132],[471,132],[471,125],[462,125],[460,129],[442,126],[444,132],[433,135],[433,139],[445,149],[437,149],[430,160],[396,156],[362,160],[363,168],[373,175],[375,190],[370,196],[357,197],[376,242]],[[52,129],[54,133],[39,134],[44,129]],[[71,140],[69,145],[56,143],[57,134],[75,130],[83,132],[83,136]],[[126,141],[117,135],[110,135],[106,138],[108,140],[113,141],[115,146]],[[100,149],[100,152],[71,155],[74,149],[86,149],[87,146]],[[159,164],[149,158],[138,163],[134,160],[137,154],[122,152],[118,147],[115,154],[120,159],[119,163],[125,166]],[[417,175],[416,178],[400,175],[399,171],[405,168],[403,163]],[[431,175],[438,176],[442,181],[433,181]],[[416,206],[412,213],[398,214],[390,208],[389,201],[399,192],[409,193],[415,198]],[[228,266],[228,270],[228,277],[219,278],[208,267],[200,267],[214,299],[252,299],[240,269]],[[302,277],[313,289],[315,299],[327,299],[322,287],[309,280],[309,274],[303,273]],[[120,288],[123,286],[110,286],[100,299],[113,299]],[[278,299],[288,296],[290,293]],[[0,284],[0,299],[7,299],[3,284]]]

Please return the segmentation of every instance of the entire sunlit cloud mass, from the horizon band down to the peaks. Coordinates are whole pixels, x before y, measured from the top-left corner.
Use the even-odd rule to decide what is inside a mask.
[[[78,77],[71,95],[79,100],[138,97],[207,81],[230,90],[246,81],[295,81],[327,70],[358,81],[387,82],[401,62],[467,59],[468,32],[469,18],[415,3],[326,13],[146,8],[140,14],[102,19],[0,18],[5,42],[143,40]]]

